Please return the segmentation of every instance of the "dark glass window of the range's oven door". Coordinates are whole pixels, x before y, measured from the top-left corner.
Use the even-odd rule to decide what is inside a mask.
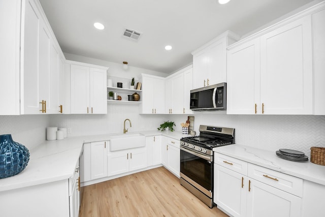
[[[181,173],[212,192],[213,162],[181,150]]]

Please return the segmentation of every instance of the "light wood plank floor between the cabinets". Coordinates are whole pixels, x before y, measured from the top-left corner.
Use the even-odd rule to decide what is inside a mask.
[[[84,187],[80,217],[228,216],[210,209],[164,167]]]

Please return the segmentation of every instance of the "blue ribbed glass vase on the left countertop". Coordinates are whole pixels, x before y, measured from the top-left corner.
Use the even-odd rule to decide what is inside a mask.
[[[28,149],[11,138],[11,134],[0,135],[0,178],[17,175],[29,161]]]

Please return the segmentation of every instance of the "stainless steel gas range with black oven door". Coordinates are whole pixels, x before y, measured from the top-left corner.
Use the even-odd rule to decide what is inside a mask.
[[[200,125],[200,136],[180,140],[180,183],[213,207],[213,148],[235,143],[235,129]]]

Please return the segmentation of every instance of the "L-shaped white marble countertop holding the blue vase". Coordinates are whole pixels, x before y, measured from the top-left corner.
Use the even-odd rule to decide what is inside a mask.
[[[157,130],[132,133],[142,133],[145,136],[165,135],[177,140],[187,136],[182,135],[181,132]],[[72,177],[83,143],[110,140],[111,135],[117,134],[68,137],[63,140],[45,141],[36,148],[29,150],[28,165],[21,173],[0,179],[0,192]]]

